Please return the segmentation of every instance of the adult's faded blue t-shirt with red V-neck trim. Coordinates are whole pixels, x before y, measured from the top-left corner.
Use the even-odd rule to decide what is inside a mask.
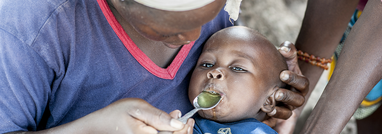
[[[187,113],[190,72],[204,42],[232,26],[221,11],[162,69],[104,0],[6,0],[0,16],[0,133],[52,128],[126,97]]]

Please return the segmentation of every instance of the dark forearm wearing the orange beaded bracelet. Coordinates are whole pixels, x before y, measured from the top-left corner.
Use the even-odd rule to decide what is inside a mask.
[[[329,59],[340,42],[357,3],[358,0],[309,0],[296,48]],[[299,61],[299,66],[310,82],[307,101],[323,69],[303,61]]]

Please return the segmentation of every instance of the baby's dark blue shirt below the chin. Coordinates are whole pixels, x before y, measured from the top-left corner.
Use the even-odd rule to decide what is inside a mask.
[[[255,118],[220,124],[198,115],[195,117],[194,134],[277,134],[277,132]]]

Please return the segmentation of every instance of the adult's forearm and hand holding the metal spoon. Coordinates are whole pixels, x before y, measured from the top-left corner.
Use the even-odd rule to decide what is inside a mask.
[[[7,134],[157,134],[159,131],[177,131],[191,134],[194,121],[187,124],[176,120],[180,111],[167,114],[146,101],[137,98],[120,99],[69,123],[36,132],[9,132]],[[191,130],[191,131],[189,131]]]

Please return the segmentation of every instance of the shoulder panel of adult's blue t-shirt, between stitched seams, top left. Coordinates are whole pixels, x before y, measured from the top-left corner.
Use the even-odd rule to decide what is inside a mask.
[[[66,0],[6,0],[0,8],[0,29],[31,44],[49,16]]]

